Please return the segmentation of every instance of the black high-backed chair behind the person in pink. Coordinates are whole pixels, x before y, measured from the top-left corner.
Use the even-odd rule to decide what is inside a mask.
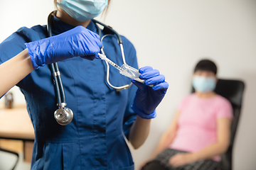
[[[219,79],[216,84],[215,93],[220,94],[230,101],[233,106],[234,119],[231,125],[231,138],[230,146],[228,147],[227,152],[221,155],[221,169],[222,170],[231,170],[232,169],[232,152],[233,144],[235,140],[235,132],[238,128],[238,122],[240,118],[240,111],[242,106],[242,94],[245,89],[245,84],[239,80],[228,80],[228,79]],[[195,90],[192,89],[192,92]]]

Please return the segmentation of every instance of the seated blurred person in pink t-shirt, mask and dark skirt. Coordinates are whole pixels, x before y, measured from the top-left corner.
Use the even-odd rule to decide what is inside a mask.
[[[233,110],[227,99],[214,92],[216,73],[210,60],[198,62],[192,81],[196,92],[183,98],[143,170],[219,169],[220,154],[230,142]]]

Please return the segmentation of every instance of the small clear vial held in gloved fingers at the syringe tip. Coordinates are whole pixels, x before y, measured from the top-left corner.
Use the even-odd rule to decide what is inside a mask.
[[[121,69],[119,70],[120,74],[129,77],[131,79],[135,79],[136,81],[139,81],[141,83],[144,83],[144,80],[139,79],[139,70],[135,69],[134,67],[130,67],[127,64],[122,64]]]

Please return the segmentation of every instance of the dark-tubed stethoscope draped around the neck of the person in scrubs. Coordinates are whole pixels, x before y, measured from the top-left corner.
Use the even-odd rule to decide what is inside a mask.
[[[53,11],[48,16],[47,29],[48,29],[49,37],[52,36],[52,23],[53,23],[53,17],[55,16],[56,12],[57,11]],[[106,38],[107,36],[113,36],[114,38],[117,38],[117,42],[119,44],[121,54],[122,54],[122,60],[123,60],[124,64],[126,64],[125,57],[124,57],[124,47],[122,45],[121,36],[112,27],[107,26],[104,23],[101,23],[100,21],[96,21],[95,19],[92,19],[92,21],[94,23],[97,23],[97,24],[100,24],[101,26],[103,26],[104,27],[103,32],[106,33],[104,36],[101,36],[102,30],[100,29],[99,26],[97,26],[97,24],[95,24],[95,26],[97,28],[97,32],[100,35],[100,41],[102,42],[102,48],[100,49],[101,53],[103,55],[105,55],[105,52],[103,50],[104,49],[104,46],[103,46],[104,38]],[[110,83],[110,65],[106,61],[105,61],[105,63],[107,64],[107,84],[109,84],[113,89],[116,89],[117,91],[121,91],[122,89],[128,89],[130,86],[132,86],[132,83],[125,84],[124,86],[113,86]],[[62,84],[62,81],[60,78],[60,71],[58,69],[58,63],[55,62],[53,64],[49,64],[48,67],[50,68],[50,72],[53,76],[53,84],[54,84],[54,88],[55,88],[55,96],[57,98],[57,106],[58,106],[58,109],[54,112],[54,118],[55,118],[55,120],[57,120],[57,122],[60,125],[68,125],[73,120],[73,111],[70,108],[65,107],[65,106],[67,106],[67,103],[65,101],[65,92],[64,92],[63,84]]]

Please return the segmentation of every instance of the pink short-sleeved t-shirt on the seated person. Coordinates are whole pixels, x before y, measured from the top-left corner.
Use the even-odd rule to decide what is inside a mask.
[[[169,147],[186,152],[197,152],[217,142],[217,119],[233,119],[231,103],[220,95],[199,98],[191,94],[183,98],[178,111],[178,130]],[[220,157],[213,160],[220,161]]]

